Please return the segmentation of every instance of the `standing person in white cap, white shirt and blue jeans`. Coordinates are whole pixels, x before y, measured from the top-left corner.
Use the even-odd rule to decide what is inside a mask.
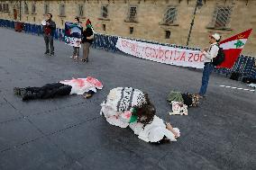
[[[219,51],[219,45],[218,42],[221,40],[221,36],[218,33],[214,33],[209,36],[209,43],[210,48],[209,49],[204,49],[202,52],[205,54],[205,67],[203,71],[203,76],[202,76],[202,85],[200,87],[198,97],[203,98],[203,96],[206,94],[208,82],[211,73],[213,72],[215,66],[213,65],[213,58],[215,58],[218,55]]]

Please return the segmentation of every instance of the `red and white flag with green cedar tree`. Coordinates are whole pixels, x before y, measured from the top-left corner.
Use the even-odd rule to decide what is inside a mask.
[[[239,57],[240,53],[242,52],[242,48],[248,40],[251,30],[252,29],[243,31],[242,33],[220,42],[220,47],[224,49],[225,59],[222,65],[219,67],[233,67],[234,62]]]

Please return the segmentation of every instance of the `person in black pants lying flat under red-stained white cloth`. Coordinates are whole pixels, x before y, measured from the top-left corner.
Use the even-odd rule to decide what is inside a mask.
[[[87,78],[72,78],[41,87],[14,87],[14,94],[21,95],[23,101],[48,99],[69,94],[83,94],[85,98],[90,98],[96,93],[96,89],[102,89],[102,87],[102,83],[96,78],[87,76]]]

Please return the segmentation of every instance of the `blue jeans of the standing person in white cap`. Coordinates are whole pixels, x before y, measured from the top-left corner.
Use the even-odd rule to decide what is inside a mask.
[[[199,95],[203,96],[206,94],[207,86],[209,83],[209,78],[211,73],[213,72],[215,66],[212,63],[206,63],[202,76],[202,85],[199,91]]]

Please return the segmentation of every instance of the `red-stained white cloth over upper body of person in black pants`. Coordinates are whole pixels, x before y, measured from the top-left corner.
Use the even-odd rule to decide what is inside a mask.
[[[96,93],[97,89],[102,89],[102,83],[92,76],[87,76],[87,78],[72,78],[71,80],[63,80],[59,83],[64,85],[71,85],[72,89],[70,94],[84,94],[89,90]]]

